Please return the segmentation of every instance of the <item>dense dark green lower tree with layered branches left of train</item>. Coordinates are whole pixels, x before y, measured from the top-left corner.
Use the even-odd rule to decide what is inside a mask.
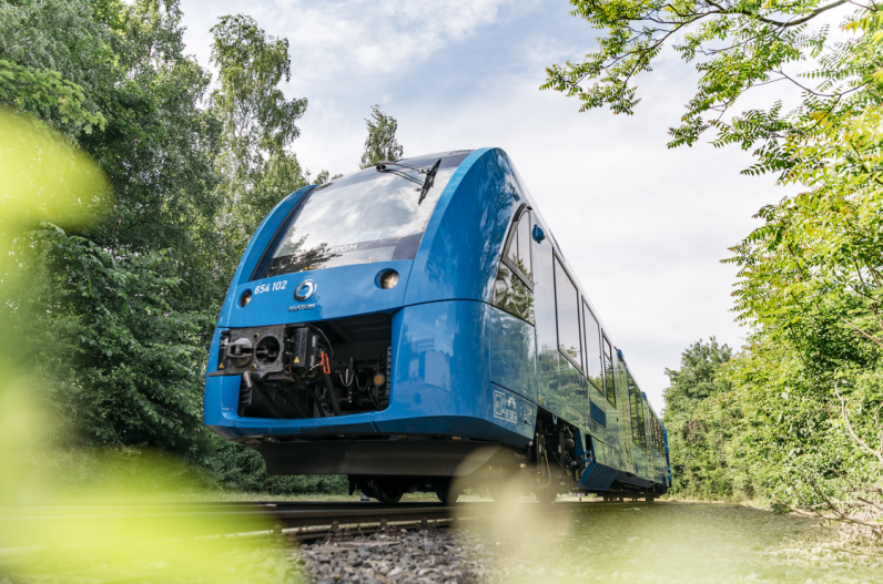
[[[87,442],[196,453],[205,441],[200,335],[213,318],[169,304],[183,284],[169,254],[119,256],[52,225],[31,240],[43,262],[22,275],[24,321],[13,322],[38,341],[31,367],[50,401]],[[34,321],[47,308],[52,316]]]

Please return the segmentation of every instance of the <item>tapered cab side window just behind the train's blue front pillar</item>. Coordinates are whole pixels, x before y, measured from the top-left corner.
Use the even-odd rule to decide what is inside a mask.
[[[526,226],[522,229],[522,225]],[[532,264],[530,260],[530,211],[525,208],[509,230],[494,280],[491,304],[531,325],[534,319]]]

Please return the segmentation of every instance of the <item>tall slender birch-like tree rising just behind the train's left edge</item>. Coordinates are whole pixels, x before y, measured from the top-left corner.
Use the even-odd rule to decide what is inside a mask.
[[[307,101],[286,100],[278,84],[291,81],[287,39],[275,39],[251,18],[226,16],[212,28],[212,62],[219,88],[212,112],[223,124],[217,172],[222,246],[237,257],[264,216],[283,197],[308,184],[286,148],[300,135],[295,122]],[[224,273],[230,275],[235,268]]]

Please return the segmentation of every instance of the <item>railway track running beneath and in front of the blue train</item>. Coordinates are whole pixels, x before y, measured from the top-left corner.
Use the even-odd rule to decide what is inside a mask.
[[[622,503],[517,503],[526,514],[572,513]],[[629,503],[630,505],[643,503]],[[0,547],[82,544],[151,537],[201,539],[283,534],[293,540],[341,539],[348,534],[447,526],[500,513],[495,503],[406,502],[220,502],[0,506]]]

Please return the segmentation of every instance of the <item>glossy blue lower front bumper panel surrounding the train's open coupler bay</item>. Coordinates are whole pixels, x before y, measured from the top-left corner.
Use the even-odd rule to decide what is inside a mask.
[[[445,300],[393,316],[389,406],[328,418],[237,416],[241,376],[206,377],[205,424],[237,441],[266,438],[438,437],[522,448],[532,439],[537,408],[491,383],[489,330],[496,309],[473,300]],[[221,330],[210,354],[217,362]],[[210,366],[210,372],[212,366]]]

